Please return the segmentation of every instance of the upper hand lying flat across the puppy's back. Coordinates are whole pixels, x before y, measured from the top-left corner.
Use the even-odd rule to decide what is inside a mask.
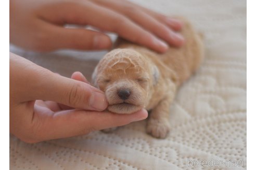
[[[10,1],[10,41],[15,45],[35,51],[111,47],[103,32],[67,29],[65,24],[92,25],[158,52],[166,51],[167,43],[177,47],[184,43],[175,32],[181,30],[181,21],[129,1]]]

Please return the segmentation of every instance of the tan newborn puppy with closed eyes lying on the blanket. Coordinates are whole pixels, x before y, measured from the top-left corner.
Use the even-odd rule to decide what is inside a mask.
[[[165,138],[170,131],[169,112],[177,87],[203,59],[201,36],[182,20],[183,47],[170,47],[159,54],[119,39],[117,49],[107,53],[93,73],[93,84],[106,93],[109,111],[131,114],[142,108],[151,110],[147,133],[157,138]]]

